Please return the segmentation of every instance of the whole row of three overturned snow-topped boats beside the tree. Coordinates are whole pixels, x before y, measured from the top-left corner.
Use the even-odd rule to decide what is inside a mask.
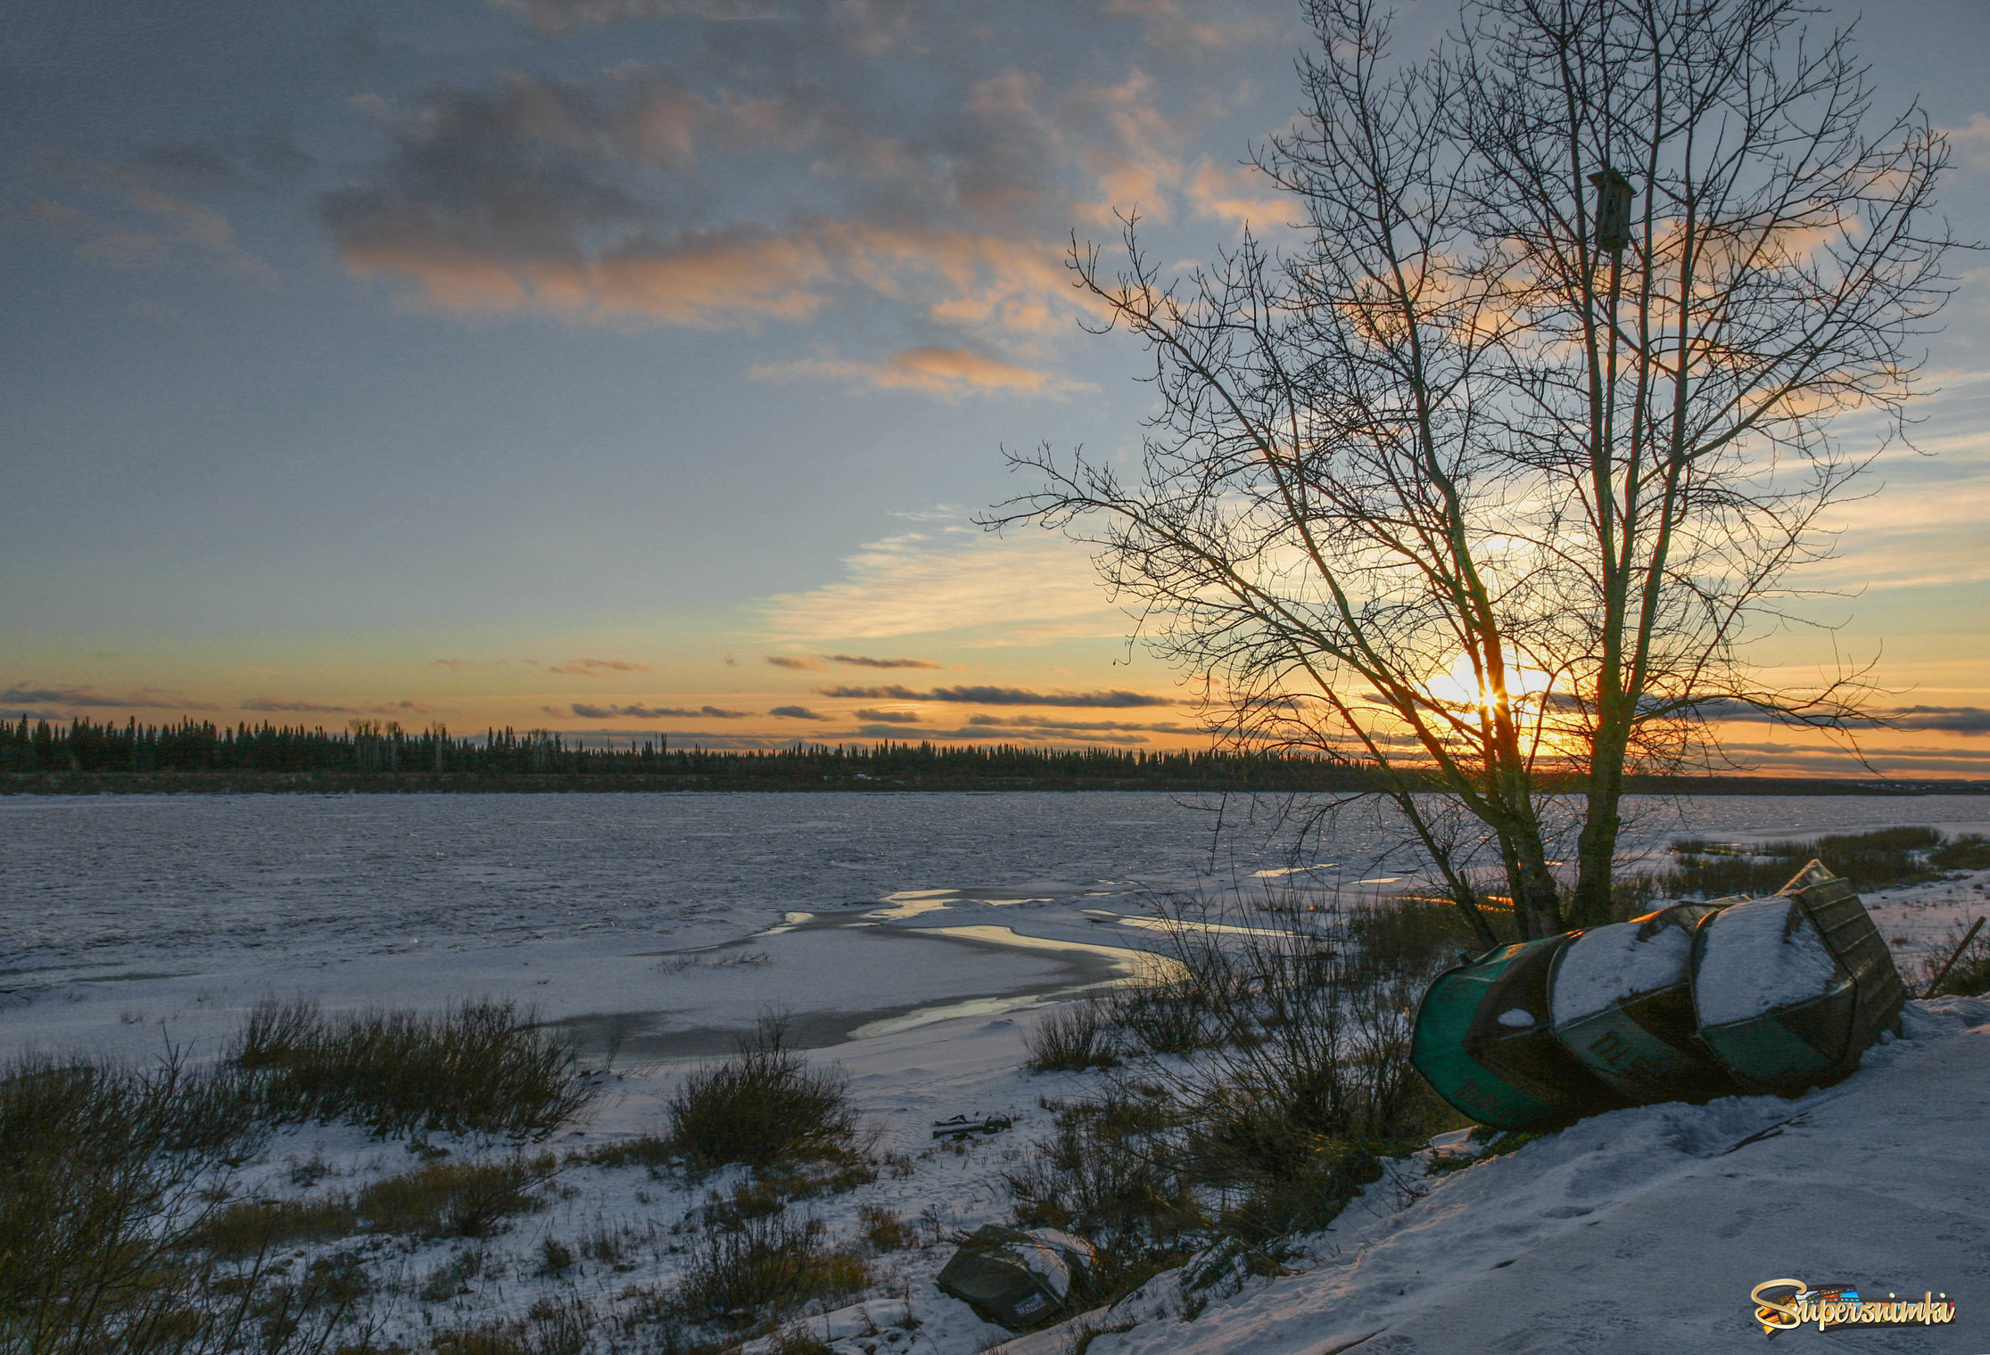
[[[1492,1128],[1626,1104],[1795,1096],[1898,1031],[1906,989],[1853,887],[1821,862],[1765,899],[1676,903],[1500,945],[1431,983],[1411,1063]]]

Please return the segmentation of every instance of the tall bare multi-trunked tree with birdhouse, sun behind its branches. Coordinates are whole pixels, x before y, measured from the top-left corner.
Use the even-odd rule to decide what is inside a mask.
[[[1013,456],[1043,487],[987,521],[1098,545],[1230,738],[1371,768],[1481,935],[1481,848],[1524,935],[1594,921],[1628,774],[1707,766],[1721,710],[1867,718],[1861,673],[1745,649],[1904,434],[1946,145],[1795,0],[1475,0],[1405,66],[1369,0],[1305,10],[1258,155],[1301,243],[1174,279],[1130,217],[1116,267],[1075,243],[1154,358],[1142,474]]]

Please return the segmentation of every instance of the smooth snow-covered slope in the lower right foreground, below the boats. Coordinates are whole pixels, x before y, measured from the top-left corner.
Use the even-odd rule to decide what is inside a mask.
[[[1948,1325],[1779,1333],[1775,1349],[1990,1349],[1990,1001],[1912,1003],[1904,1039],[1799,1100],[1616,1110],[1435,1180],[1385,1178],[1315,1259],[1172,1313],[1152,1281],[1089,1355],[1717,1355],[1761,1349],[1769,1279],[1924,1293]],[[1005,1355],[1057,1355],[1069,1331]]]

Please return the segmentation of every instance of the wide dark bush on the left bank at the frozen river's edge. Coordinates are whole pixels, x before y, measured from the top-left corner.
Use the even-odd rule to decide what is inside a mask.
[[[229,1063],[257,1074],[279,1122],[346,1120],[374,1134],[482,1132],[545,1138],[593,1098],[571,1045],[509,1001],[442,1015],[261,1003]]]

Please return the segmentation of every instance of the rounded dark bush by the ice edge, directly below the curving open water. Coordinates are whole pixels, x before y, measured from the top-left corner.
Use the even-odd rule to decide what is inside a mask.
[[[856,1114],[844,1078],[786,1047],[788,1025],[764,1017],[740,1053],[691,1072],[671,1096],[671,1148],[698,1170],[752,1168],[850,1152]]]

